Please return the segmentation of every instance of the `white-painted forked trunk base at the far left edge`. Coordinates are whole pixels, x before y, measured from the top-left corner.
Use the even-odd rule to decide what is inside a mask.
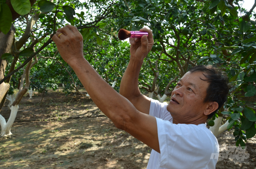
[[[3,118],[2,115],[0,115],[0,125],[1,125],[1,134],[0,137],[10,136],[11,133],[11,127],[14,123],[14,120],[16,118],[17,112],[18,112],[19,106],[16,104],[15,106],[11,107],[11,114],[10,117],[6,123],[5,118]]]

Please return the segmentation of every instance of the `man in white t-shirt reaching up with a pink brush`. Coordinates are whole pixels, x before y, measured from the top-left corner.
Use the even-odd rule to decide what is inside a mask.
[[[138,77],[154,40],[151,30],[140,31],[149,35],[130,38],[131,58],[120,94],[84,58],[82,35],[76,27],[58,29],[52,40],[99,109],[117,128],[153,149],[147,169],[215,168],[219,146],[206,120],[227,99],[227,77],[212,66],[195,66],[178,81],[169,104],[145,97],[139,91]]]

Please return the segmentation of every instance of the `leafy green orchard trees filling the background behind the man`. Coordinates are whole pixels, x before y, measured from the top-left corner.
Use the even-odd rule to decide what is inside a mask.
[[[28,8],[28,1],[20,6],[26,4]],[[235,88],[213,116],[215,124],[210,130],[218,136],[234,128],[237,146],[244,146],[256,134],[254,105],[239,99],[244,92],[245,98],[256,94],[256,3],[246,11],[241,0],[30,0],[29,10],[25,5],[17,9],[12,2],[15,0],[1,2],[0,11],[0,20],[9,21],[5,26],[0,24],[0,109],[8,100],[13,117],[6,123],[0,116],[2,137],[12,135],[18,104],[28,89],[45,92],[62,83],[65,92],[75,90],[86,95],[79,92],[82,84],[50,39],[66,24],[81,31],[85,58],[110,85],[116,84],[117,91],[130,53],[128,42],[116,38],[121,28],[148,26],[154,45],[162,46],[162,50],[160,47],[148,54],[138,84],[142,92],[151,98],[157,95],[160,102],[171,95],[177,79],[192,66],[221,68]],[[8,17],[2,13],[6,5],[11,11]],[[76,13],[75,9],[82,10]],[[14,89],[18,89],[15,95]],[[223,115],[228,117],[221,126]]]

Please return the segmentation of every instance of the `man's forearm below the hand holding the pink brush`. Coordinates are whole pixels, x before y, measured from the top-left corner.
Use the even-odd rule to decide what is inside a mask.
[[[143,60],[140,61],[131,59],[125,73],[123,74],[119,93],[128,100],[133,100],[136,97],[140,97],[138,78],[142,64]]]

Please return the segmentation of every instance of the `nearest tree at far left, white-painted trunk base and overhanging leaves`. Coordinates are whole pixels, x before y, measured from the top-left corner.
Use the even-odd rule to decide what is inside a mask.
[[[24,2],[7,0],[1,1],[0,4],[0,109],[6,99],[11,107],[8,122],[0,115],[0,137],[10,137],[11,126],[18,112],[18,104],[30,87],[32,67],[41,59],[53,57],[52,51],[49,51],[47,46],[51,44],[51,37],[56,30],[69,23],[81,30],[85,43],[95,37],[96,42],[101,44],[102,36],[110,36],[108,33],[105,34],[103,29],[106,24],[102,24],[102,20],[111,19],[115,14],[113,14],[113,2],[106,1],[81,3],[61,0],[24,0]],[[79,8],[84,8],[85,12],[75,13],[75,9]],[[53,47],[56,53],[55,45]],[[53,60],[60,63],[60,57],[56,56],[56,58]],[[40,69],[40,66],[38,68]],[[14,95],[12,90],[9,91],[9,83],[11,78],[14,78],[12,75],[15,72],[19,73],[15,75],[14,81],[17,83],[12,84],[12,89],[18,89],[18,93]],[[41,79],[46,78],[48,77],[41,77]],[[47,81],[45,84],[48,83]],[[52,82],[50,83],[48,84],[51,86]]]

